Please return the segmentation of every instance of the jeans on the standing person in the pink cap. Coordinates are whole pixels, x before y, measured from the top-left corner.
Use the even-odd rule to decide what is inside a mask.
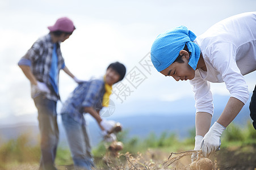
[[[39,129],[41,135],[41,160],[39,169],[56,170],[54,159],[58,145],[58,125],[56,101],[46,99],[39,95],[34,99],[37,111]]]

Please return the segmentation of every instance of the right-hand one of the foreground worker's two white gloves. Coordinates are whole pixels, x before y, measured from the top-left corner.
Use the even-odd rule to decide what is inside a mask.
[[[220,136],[225,129],[226,128],[218,122],[212,125],[207,134],[205,134],[201,144],[203,156],[207,157],[211,152],[220,150]]]

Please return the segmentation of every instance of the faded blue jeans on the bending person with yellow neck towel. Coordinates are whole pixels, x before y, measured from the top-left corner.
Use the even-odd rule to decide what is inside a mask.
[[[91,167],[94,167],[94,163],[86,124],[79,124],[68,113],[62,113],[61,118],[72,154],[74,168],[90,170]]]

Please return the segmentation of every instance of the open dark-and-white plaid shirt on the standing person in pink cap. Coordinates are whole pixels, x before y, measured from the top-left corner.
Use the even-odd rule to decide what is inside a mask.
[[[54,92],[52,84],[49,81],[49,73],[51,70],[52,64],[52,51],[53,51],[53,42],[51,40],[51,35],[48,34],[39,38],[32,47],[28,50],[28,52],[23,56],[18,65],[27,65],[31,67],[32,74],[39,82],[43,82],[47,84],[47,87],[51,90],[49,94],[45,94],[45,97],[50,100],[57,101],[60,99],[60,96]],[[57,74],[57,87],[58,87],[58,75],[60,73],[60,69],[65,67],[64,58],[62,57],[60,50],[60,43],[57,43],[57,56],[58,56],[58,74]],[[32,89],[32,88],[31,88]],[[37,94],[32,94],[32,98],[38,96],[40,92]]]

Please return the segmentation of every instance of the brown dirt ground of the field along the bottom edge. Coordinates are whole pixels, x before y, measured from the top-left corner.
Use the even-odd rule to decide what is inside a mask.
[[[182,159],[164,167],[163,162],[169,157],[169,153],[160,150],[150,150],[144,154],[131,155],[124,154],[119,159],[95,158],[98,166],[95,169],[171,169],[171,170],[189,170],[190,156],[184,156]],[[171,156],[171,158],[177,155]],[[214,167],[217,170],[256,170],[256,145],[242,146],[236,148],[221,148],[216,154],[211,155]],[[106,163],[108,162],[108,165]],[[1,170],[34,170],[38,169],[37,163],[20,164]],[[74,170],[73,165],[57,165],[58,170]]]

